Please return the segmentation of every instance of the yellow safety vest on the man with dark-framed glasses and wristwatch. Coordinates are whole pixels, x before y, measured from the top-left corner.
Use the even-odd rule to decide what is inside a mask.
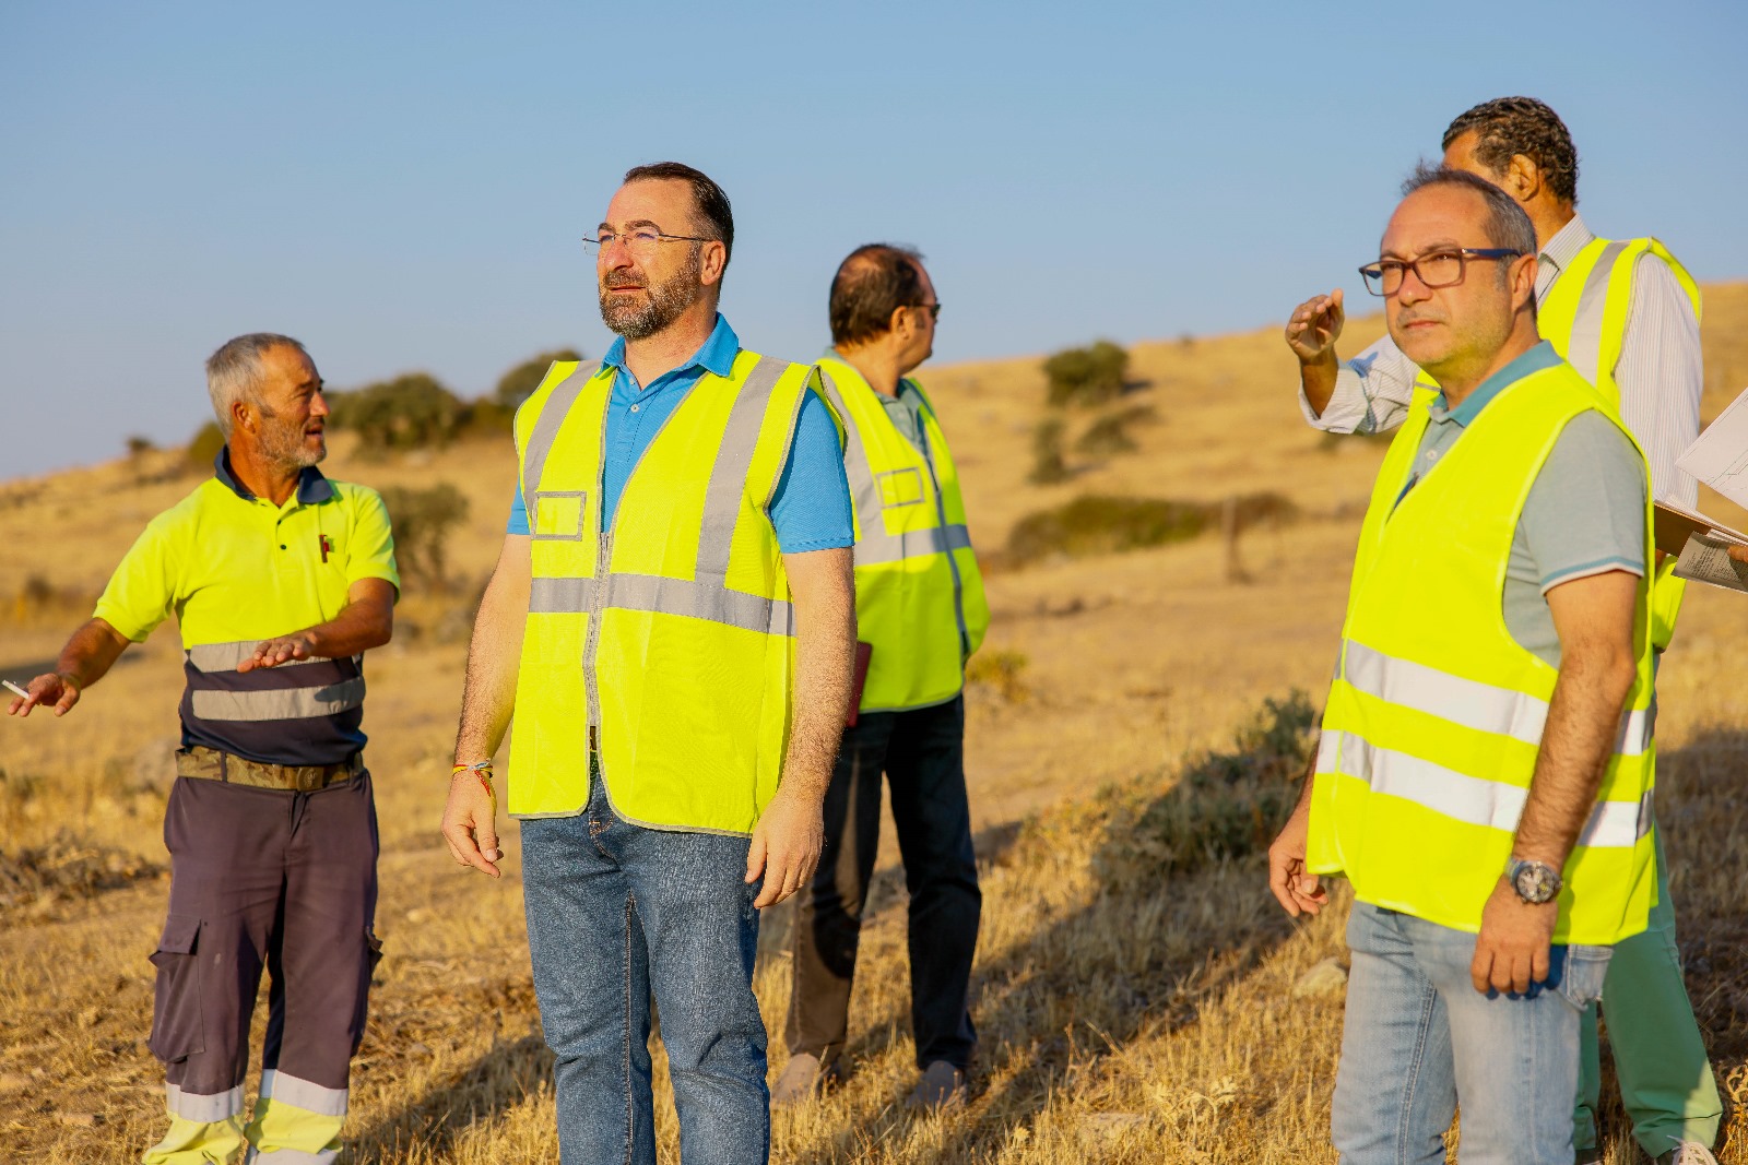
[[[1402,496],[1430,398],[1416,393],[1360,533],[1306,865],[1344,872],[1360,901],[1474,933],[1510,858],[1559,676],[1505,625],[1512,538],[1566,423],[1589,409],[1620,421],[1568,365],[1533,372],[1491,400]],[[1647,501],[1647,561],[1650,550]],[[1655,896],[1648,618],[1641,580],[1638,676],[1566,861],[1554,931],[1563,943],[1606,945],[1643,931]]]

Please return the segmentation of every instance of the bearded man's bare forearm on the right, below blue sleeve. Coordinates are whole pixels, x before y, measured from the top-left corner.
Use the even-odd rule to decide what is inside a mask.
[[[848,550],[813,554],[834,559],[809,571],[806,583],[795,590],[795,723],[783,762],[783,784],[799,795],[823,796],[850,714],[857,589]],[[837,562],[837,557],[843,561]]]

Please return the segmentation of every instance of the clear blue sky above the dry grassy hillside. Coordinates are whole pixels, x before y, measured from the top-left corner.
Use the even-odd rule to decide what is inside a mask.
[[[0,479],[185,440],[239,332],[343,388],[600,355],[577,239],[661,159],[727,189],[724,311],[788,358],[874,239],[928,255],[939,360],[1358,297],[1404,171],[1510,93],[1596,231],[1748,278],[1745,47],[1736,0],[3,3]]]

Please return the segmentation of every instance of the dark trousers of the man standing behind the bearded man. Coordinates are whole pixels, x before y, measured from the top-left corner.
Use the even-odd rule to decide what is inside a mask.
[[[862,906],[879,845],[879,781],[891,788],[911,891],[911,1027],[916,1064],[967,1067],[977,1044],[968,1008],[982,894],[965,800],[965,699],[905,713],[864,713],[844,730],[825,791],[825,851],[797,898],[790,1055],[830,1064],[844,1050]]]

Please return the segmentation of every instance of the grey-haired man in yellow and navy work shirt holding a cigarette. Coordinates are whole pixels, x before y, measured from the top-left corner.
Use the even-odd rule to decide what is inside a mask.
[[[383,500],[315,468],[329,407],[304,346],[239,335],[206,362],[206,386],[225,435],[213,477],[152,519],[9,711],[65,716],[177,617],[187,686],[150,1036],[170,1132],[143,1160],[332,1162],[381,950],[362,662],[388,643],[400,580]],[[245,1118],[264,964],[260,1099]]]

